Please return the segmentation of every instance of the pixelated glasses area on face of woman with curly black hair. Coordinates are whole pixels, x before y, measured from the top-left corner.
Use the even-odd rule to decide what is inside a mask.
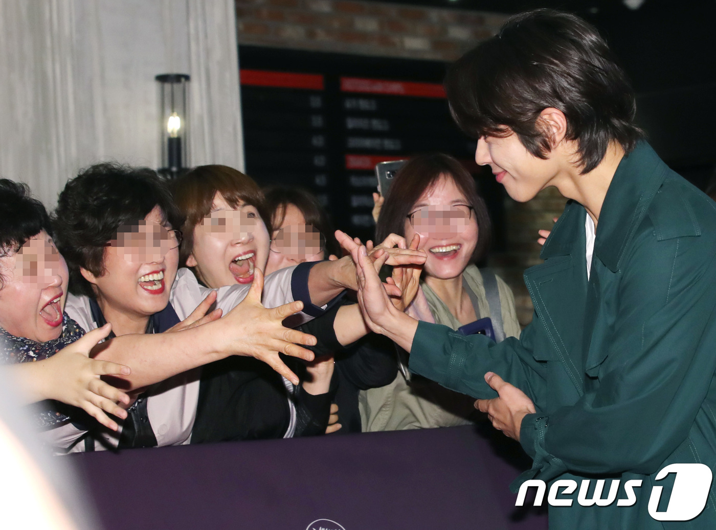
[[[154,222],[141,220],[136,225],[123,225],[117,229],[117,237],[105,247],[117,249],[117,254],[130,263],[160,261],[182,241],[181,230],[168,230]]]

